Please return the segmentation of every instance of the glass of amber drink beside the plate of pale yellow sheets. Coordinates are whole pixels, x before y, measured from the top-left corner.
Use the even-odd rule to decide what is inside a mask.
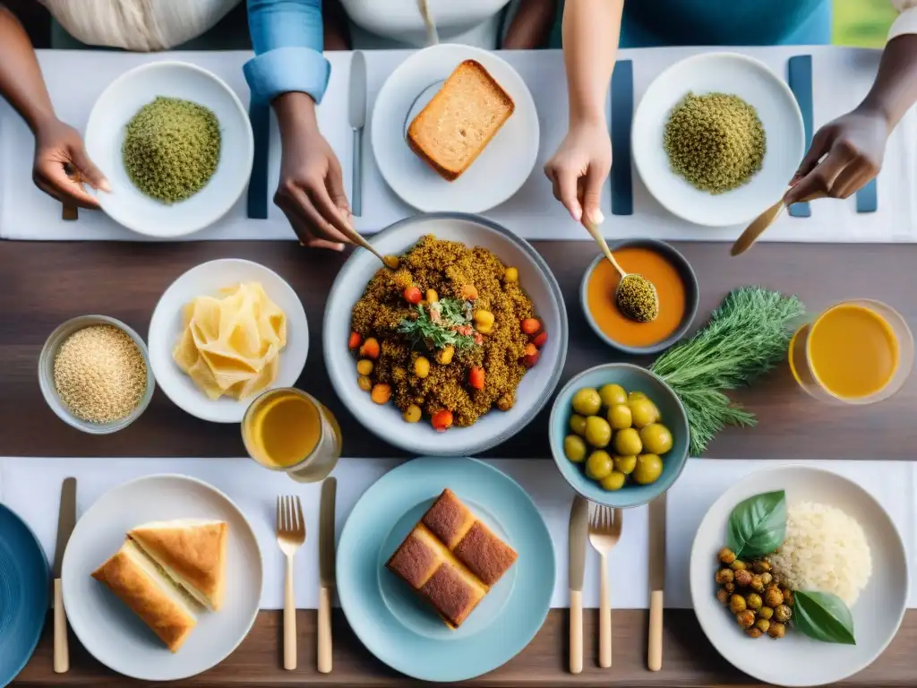
[[[335,416],[293,387],[255,397],[242,418],[242,440],[252,459],[299,483],[324,480],[341,455]]]

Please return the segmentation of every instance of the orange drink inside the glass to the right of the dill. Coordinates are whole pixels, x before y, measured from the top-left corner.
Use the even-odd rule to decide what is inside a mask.
[[[862,305],[825,311],[812,325],[807,348],[815,378],[845,399],[878,393],[898,369],[898,338],[884,317]]]

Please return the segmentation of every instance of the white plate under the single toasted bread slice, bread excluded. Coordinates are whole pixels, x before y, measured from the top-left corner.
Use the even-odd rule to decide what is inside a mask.
[[[454,182],[447,182],[418,158],[404,138],[412,114],[464,60],[477,60],[515,103],[478,159]],[[418,107],[420,105],[420,107]],[[370,139],[376,164],[395,194],[425,212],[483,213],[502,204],[528,179],[538,157],[538,113],[522,77],[492,52],[464,45],[418,50],[392,72],[372,109]]]

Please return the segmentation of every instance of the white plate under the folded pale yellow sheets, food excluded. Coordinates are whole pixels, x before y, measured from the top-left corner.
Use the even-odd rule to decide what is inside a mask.
[[[259,282],[287,316],[287,345],[281,351],[280,370],[270,389],[292,387],[303,373],[309,352],[309,326],[299,296],[283,278],[257,262],[237,258],[209,261],[185,272],[160,297],[149,321],[149,365],[160,389],[192,416],[214,423],[240,423],[252,397],[236,401],[221,396],[211,401],[172,359],[182,334],[182,308],[198,296],[216,295],[241,282]]]

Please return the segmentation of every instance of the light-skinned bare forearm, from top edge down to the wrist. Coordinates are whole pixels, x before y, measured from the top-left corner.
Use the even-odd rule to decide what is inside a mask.
[[[624,0],[575,0],[564,6],[564,64],[570,124],[605,117]]]

